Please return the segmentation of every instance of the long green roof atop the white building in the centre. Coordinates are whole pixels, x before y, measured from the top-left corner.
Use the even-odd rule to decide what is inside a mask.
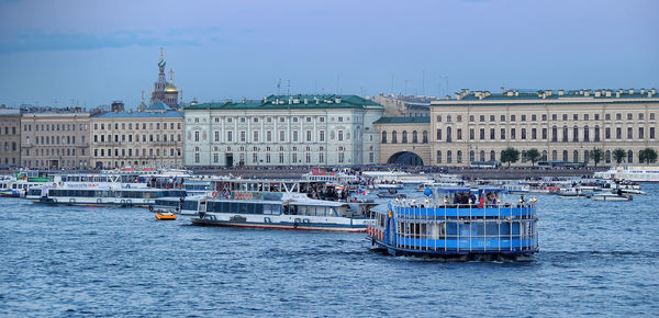
[[[306,103],[304,101],[306,100]],[[297,94],[269,95],[260,101],[211,102],[186,106],[185,110],[317,110],[317,109],[383,109],[382,105],[357,95]]]

